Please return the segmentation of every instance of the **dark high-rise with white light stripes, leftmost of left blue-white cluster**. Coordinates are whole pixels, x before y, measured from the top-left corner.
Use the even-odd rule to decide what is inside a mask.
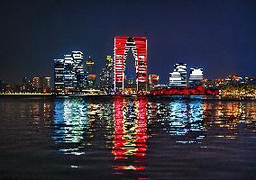
[[[54,59],[54,89],[64,93],[64,59]]]

